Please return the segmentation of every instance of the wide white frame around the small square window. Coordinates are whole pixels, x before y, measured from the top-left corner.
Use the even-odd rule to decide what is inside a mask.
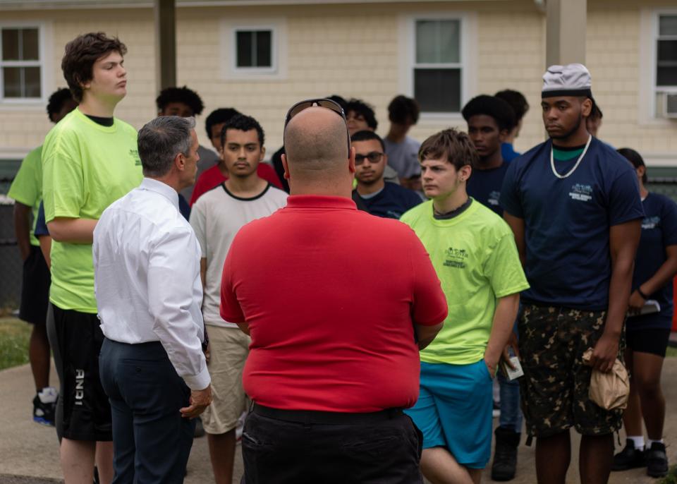
[[[238,32],[269,30],[271,32],[271,66],[238,67]],[[283,18],[221,21],[221,79],[271,80],[286,78],[286,21]]]

